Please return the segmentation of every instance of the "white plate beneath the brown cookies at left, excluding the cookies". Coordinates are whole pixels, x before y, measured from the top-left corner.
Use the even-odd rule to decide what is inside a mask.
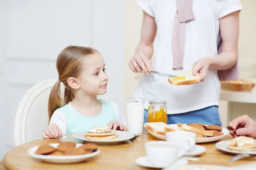
[[[59,143],[49,144],[52,147],[58,147]],[[76,144],[76,147],[79,147],[83,144]],[[71,155],[71,156],[53,156],[53,155],[38,155],[35,154],[35,151],[38,150],[39,146],[31,147],[28,150],[28,153],[30,156],[37,160],[51,162],[51,163],[61,163],[61,164],[69,164],[69,163],[75,163],[75,162],[81,162],[85,161],[90,157],[96,156],[100,153],[100,150],[96,150],[93,153],[87,153],[84,155]]]

